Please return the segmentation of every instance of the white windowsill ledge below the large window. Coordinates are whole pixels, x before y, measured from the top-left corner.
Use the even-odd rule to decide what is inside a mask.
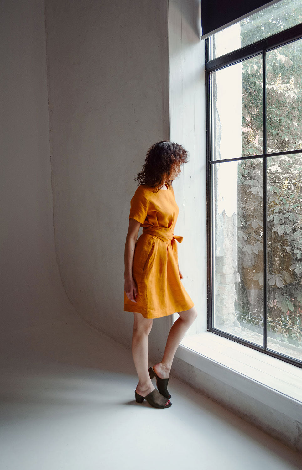
[[[176,356],[267,406],[302,421],[302,368],[210,331],[185,337]]]

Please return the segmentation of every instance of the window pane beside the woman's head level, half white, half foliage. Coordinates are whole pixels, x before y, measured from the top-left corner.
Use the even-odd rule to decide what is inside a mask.
[[[211,159],[262,154],[262,55],[213,72],[211,82]]]

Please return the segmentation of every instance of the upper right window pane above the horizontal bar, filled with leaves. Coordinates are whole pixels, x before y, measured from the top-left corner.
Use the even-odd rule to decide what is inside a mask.
[[[267,148],[302,149],[302,39],[266,53]]]

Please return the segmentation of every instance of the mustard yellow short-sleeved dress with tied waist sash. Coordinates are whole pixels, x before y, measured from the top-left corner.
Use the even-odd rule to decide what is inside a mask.
[[[129,219],[143,227],[138,238],[132,276],[138,287],[136,303],[124,292],[124,311],[139,312],[145,318],[160,318],[183,312],[194,306],[178,271],[177,242],[183,237],[173,234],[178,217],[174,190],[141,185],[131,199]]]

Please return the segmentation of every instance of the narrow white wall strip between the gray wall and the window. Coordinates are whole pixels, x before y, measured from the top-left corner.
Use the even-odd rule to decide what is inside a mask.
[[[175,233],[184,236],[179,266],[199,313],[186,336],[207,330],[205,51],[200,8],[200,0],[169,0],[170,139],[182,142],[190,154],[174,183],[179,205]]]

